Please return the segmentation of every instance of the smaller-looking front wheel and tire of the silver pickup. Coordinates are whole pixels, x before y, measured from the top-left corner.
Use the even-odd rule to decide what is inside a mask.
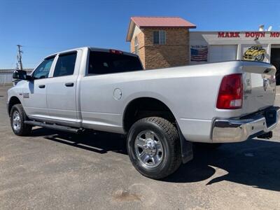
[[[20,137],[30,134],[32,126],[24,123],[27,119],[22,104],[15,104],[10,110],[10,126],[12,127],[14,134]]]

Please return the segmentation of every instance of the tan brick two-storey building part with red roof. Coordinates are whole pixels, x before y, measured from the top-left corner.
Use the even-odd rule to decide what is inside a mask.
[[[175,17],[132,17],[127,31],[130,51],[145,69],[189,64],[192,23]]]

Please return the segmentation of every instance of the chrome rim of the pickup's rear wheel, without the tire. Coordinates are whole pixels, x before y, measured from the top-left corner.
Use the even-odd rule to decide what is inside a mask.
[[[137,158],[146,167],[157,167],[162,162],[163,148],[154,132],[144,131],[137,135],[134,143]]]

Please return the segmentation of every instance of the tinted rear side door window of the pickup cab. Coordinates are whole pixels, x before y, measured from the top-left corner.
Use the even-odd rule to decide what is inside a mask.
[[[77,52],[59,55],[53,77],[72,75],[75,69]]]

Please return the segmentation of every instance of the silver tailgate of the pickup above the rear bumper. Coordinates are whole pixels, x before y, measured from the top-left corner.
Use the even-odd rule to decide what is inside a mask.
[[[242,113],[248,114],[274,105],[276,69],[264,62],[243,62],[244,101]]]

